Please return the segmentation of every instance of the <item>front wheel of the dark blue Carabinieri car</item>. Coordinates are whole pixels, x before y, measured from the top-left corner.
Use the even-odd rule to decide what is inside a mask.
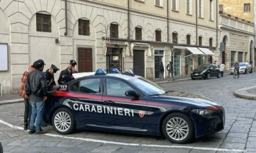
[[[194,138],[191,119],[181,113],[169,114],[162,124],[163,135],[172,143],[188,143]]]

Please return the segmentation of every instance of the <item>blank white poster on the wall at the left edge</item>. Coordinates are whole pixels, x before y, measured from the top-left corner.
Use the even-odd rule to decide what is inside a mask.
[[[0,44],[0,71],[8,70],[8,46]]]

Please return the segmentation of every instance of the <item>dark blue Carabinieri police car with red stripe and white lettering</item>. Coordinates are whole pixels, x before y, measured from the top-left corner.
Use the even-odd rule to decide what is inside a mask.
[[[164,135],[188,143],[224,129],[224,108],[206,97],[167,91],[146,78],[124,73],[79,77],[49,93],[44,120],[59,134],[76,129]]]

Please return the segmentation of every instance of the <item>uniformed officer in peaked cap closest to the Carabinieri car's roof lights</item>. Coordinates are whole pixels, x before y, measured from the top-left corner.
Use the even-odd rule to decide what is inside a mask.
[[[68,68],[60,72],[60,77],[58,80],[59,85],[65,84],[74,79],[73,73],[77,73],[75,66],[76,66],[76,61],[70,60],[70,63],[68,64]]]

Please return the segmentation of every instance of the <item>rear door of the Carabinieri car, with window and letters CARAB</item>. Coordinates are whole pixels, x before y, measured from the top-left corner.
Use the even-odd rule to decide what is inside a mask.
[[[66,100],[80,124],[103,126],[102,79],[86,78],[69,86]]]

